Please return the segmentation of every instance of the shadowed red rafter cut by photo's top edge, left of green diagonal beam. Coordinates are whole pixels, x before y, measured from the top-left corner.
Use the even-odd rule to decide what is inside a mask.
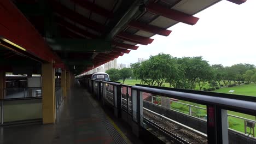
[[[113,13],[111,11],[108,11],[107,9],[99,7],[98,5],[91,3],[89,1],[84,1],[84,0],[71,0],[71,1],[103,17],[108,17],[108,18],[113,17]]]

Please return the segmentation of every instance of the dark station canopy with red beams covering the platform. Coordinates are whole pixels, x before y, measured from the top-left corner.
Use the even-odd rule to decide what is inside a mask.
[[[229,0],[242,4],[246,0]],[[183,22],[195,25],[196,13],[218,0],[13,0],[1,1],[1,44],[18,53],[54,62],[81,74],[114,58],[154,43],[155,34]],[[175,30],[175,29],[172,29]],[[13,55],[13,54],[12,54]]]

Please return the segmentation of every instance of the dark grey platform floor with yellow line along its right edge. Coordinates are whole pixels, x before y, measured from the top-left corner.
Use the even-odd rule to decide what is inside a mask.
[[[0,143],[142,143],[84,88],[73,88],[68,95],[55,124],[1,127]]]

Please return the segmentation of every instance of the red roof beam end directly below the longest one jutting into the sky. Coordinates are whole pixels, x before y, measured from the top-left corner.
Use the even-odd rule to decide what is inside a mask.
[[[138,22],[138,21],[132,21],[128,25],[130,27],[137,28],[142,31],[159,34],[159,35],[164,35],[164,36],[168,36],[172,32],[172,31],[164,29],[164,28],[146,25],[146,24],[144,24],[142,22]]]

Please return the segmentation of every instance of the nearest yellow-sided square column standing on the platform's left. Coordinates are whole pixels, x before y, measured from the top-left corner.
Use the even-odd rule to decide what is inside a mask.
[[[53,63],[42,64],[43,124],[55,123],[55,70]]]

